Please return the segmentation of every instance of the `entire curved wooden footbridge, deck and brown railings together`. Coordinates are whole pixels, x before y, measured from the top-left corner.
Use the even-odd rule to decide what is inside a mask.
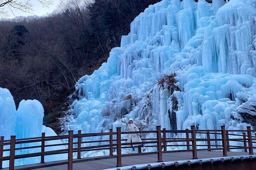
[[[156,138],[142,138],[143,142],[137,142],[133,144],[145,144],[147,148],[154,147],[155,152],[141,152],[141,147],[138,147],[138,153],[136,154],[122,154],[122,149],[129,148],[126,139],[122,139],[122,135],[136,134],[138,132],[121,132],[121,128],[118,127],[116,132],[110,129],[110,132],[95,133],[95,134],[74,134],[73,130],[69,131],[68,135],[62,136],[45,136],[42,133],[41,137],[16,139],[16,136],[11,136],[10,140],[4,140],[1,137],[0,140],[0,169],[2,169],[2,162],[9,160],[9,168],[4,170],[100,170],[100,169],[187,169],[190,164],[194,164],[196,167],[203,167],[213,164],[215,168],[218,165],[220,167],[223,162],[229,166],[230,169],[244,169],[252,167],[256,169],[256,157],[253,155],[253,143],[256,143],[256,131],[252,131],[248,126],[247,130],[225,130],[225,126],[221,126],[221,130],[195,130],[195,126],[191,126],[191,130],[161,130],[160,126],[156,126],[156,130],[153,131],[140,131],[140,134],[153,134]],[[168,138],[167,134],[180,134],[178,136],[186,136],[184,138]],[[183,134],[183,135],[181,135]],[[252,135],[253,134],[253,135]],[[82,138],[94,137],[94,136],[107,136],[109,140],[98,141],[83,141]],[[213,138],[214,136],[214,138]],[[212,138],[211,138],[212,137]],[[45,145],[46,141],[54,140],[66,140],[68,143]],[[77,141],[77,142],[74,142]],[[220,142],[218,142],[220,141]],[[230,145],[230,141],[238,142],[237,146]],[[20,144],[25,143],[41,143],[39,146],[22,147]],[[84,143],[94,143],[92,146],[83,147]],[[107,143],[107,144],[106,144]],[[221,143],[218,144],[218,143]],[[105,145],[106,144],[106,145]],[[66,149],[45,151],[46,147],[64,146]],[[20,147],[17,147],[20,146]],[[170,147],[177,147],[180,150],[168,150]],[[28,154],[16,154],[18,150],[41,148],[41,152],[28,153]],[[240,149],[244,152],[229,152],[233,149]],[[100,157],[81,158],[81,152],[86,151],[99,151],[109,150],[109,155]],[[114,152],[113,150],[117,151]],[[15,153],[16,151],[16,153]],[[215,151],[215,152],[208,152]],[[249,152],[248,152],[249,151]],[[3,156],[4,152],[10,152],[9,156]],[[44,162],[46,155],[68,154],[67,160],[60,160],[54,162]],[[76,153],[76,154],[74,154]],[[248,154],[249,153],[249,154]],[[74,158],[74,155],[77,155]],[[41,162],[38,164],[14,166],[15,159],[41,157]],[[239,164],[237,163],[238,161]],[[241,164],[241,161],[243,162]],[[234,162],[234,163],[233,163]],[[228,163],[228,164],[227,164]],[[133,166],[136,165],[136,166]],[[226,166],[225,165],[225,166]],[[241,166],[243,168],[241,168]],[[212,169],[211,167],[210,169]],[[191,169],[191,168],[190,168]],[[200,168],[202,169],[202,168]],[[207,169],[207,168],[204,168]]]

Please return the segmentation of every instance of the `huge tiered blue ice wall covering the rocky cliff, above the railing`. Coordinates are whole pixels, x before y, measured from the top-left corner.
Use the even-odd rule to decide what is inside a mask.
[[[177,129],[196,123],[199,129],[245,129],[237,109],[256,93],[255,23],[255,0],[162,0],[149,6],[107,63],[76,84],[79,100],[68,128],[107,131],[132,117],[145,130],[172,129],[168,114],[176,97]],[[156,83],[174,72],[181,91],[171,94]],[[103,116],[106,108],[118,114],[115,123]],[[128,114],[121,119],[122,108]]]

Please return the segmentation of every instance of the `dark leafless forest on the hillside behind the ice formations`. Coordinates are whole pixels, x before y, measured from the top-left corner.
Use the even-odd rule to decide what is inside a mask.
[[[10,90],[16,107],[23,99],[40,101],[44,125],[58,133],[76,81],[106,62],[133,19],[158,1],[67,0],[47,16],[2,18],[0,87]]]

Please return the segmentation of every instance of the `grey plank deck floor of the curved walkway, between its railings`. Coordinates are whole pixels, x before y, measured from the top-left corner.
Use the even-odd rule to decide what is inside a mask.
[[[198,151],[198,159],[203,158],[214,158],[222,157],[223,152],[219,151]],[[238,156],[238,155],[247,155],[247,152],[228,152],[228,156]],[[178,161],[178,160],[189,160],[192,159],[192,152],[176,152],[176,153],[163,153],[163,161]],[[94,157],[95,158],[95,157]],[[73,161],[75,161],[74,159]],[[157,154],[148,154],[148,155],[134,155],[129,157],[122,157],[122,165],[136,165],[136,164],[146,164],[146,163],[155,163],[157,160]],[[73,170],[102,170],[108,168],[116,168],[116,158],[103,159],[103,160],[92,160],[82,163],[74,163]],[[46,163],[47,164],[47,163]],[[36,164],[32,164],[33,166]],[[30,167],[32,165],[23,165],[16,166],[15,169],[23,169]],[[40,164],[39,164],[40,165]],[[52,166],[48,168],[41,168],[35,170],[67,170],[67,165]],[[3,170],[9,170],[9,168],[4,168]]]

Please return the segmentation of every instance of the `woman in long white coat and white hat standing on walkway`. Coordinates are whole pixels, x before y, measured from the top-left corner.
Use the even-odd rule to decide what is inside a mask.
[[[137,126],[135,124],[133,124],[133,119],[132,118],[129,119],[129,123],[126,125],[126,130],[129,131],[129,132],[135,132],[135,131],[138,132],[139,131]],[[128,134],[127,142],[128,143],[142,142],[142,140],[140,139],[140,134]],[[132,149],[133,149],[132,153],[135,153],[135,147],[134,146],[139,146],[139,144],[132,145]],[[146,148],[145,148],[144,144],[142,144],[142,147],[143,147],[143,151],[145,151]]]

